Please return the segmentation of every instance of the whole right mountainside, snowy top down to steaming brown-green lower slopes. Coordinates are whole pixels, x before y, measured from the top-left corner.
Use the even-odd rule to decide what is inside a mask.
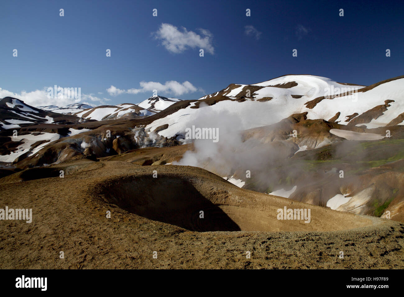
[[[191,127],[210,128],[221,140],[181,140],[192,149],[173,164],[202,167],[249,190],[404,219],[404,76],[361,86],[286,75],[186,103],[146,130],[181,139]],[[249,171],[254,178],[246,178]]]

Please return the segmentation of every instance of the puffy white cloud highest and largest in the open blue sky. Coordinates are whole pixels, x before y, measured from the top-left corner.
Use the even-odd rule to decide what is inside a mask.
[[[162,23],[153,35],[155,39],[161,40],[162,45],[171,53],[182,53],[187,48],[202,48],[212,55],[215,53],[212,45],[213,35],[209,30],[198,29],[200,34],[196,34],[182,27],[181,31],[174,25]]]

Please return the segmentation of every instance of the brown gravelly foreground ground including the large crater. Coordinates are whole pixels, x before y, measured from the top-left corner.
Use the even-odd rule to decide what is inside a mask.
[[[196,167],[84,159],[9,175],[0,191],[0,208],[33,213],[0,221],[2,269],[404,268],[403,223],[240,189]],[[310,223],[278,220],[284,206],[311,209]]]

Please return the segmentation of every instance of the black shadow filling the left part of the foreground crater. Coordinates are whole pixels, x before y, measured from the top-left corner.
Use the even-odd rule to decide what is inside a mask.
[[[101,192],[109,202],[154,221],[198,232],[240,231],[218,206],[182,179],[150,176],[117,180]],[[200,218],[200,211],[204,218]]]

